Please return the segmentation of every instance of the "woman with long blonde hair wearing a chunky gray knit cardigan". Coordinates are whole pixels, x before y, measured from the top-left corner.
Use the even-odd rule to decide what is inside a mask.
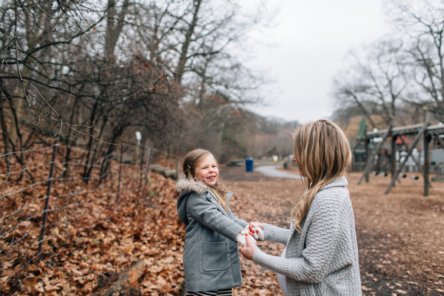
[[[290,229],[254,222],[263,240],[286,245],[270,256],[247,238],[246,259],[275,271],[284,295],[361,296],[355,221],[348,185],[352,155],[341,129],[328,120],[298,127],[295,155],[307,190],[291,212]]]

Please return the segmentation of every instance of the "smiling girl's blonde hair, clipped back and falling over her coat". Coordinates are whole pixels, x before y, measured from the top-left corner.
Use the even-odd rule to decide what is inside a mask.
[[[197,148],[189,151],[184,156],[184,163],[182,165],[182,168],[184,170],[185,177],[188,179],[194,179],[194,170],[196,166],[204,161],[205,157],[207,157],[208,155],[213,156],[213,158],[216,160],[216,165],[219,168],[218,161],[213,153],[205,149]],[[225,212],[228,212],[226,207],[226,193],[228,192],[228,190],[222,186],[222,183],[219,182],[219,180],[216,181],[215,185],[209,188],[211,192],[213,192],[218,198],[218,204],[222,205]]]

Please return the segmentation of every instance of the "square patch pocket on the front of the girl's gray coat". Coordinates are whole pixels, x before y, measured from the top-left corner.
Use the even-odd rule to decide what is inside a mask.
[[[203,244],[203,269],[205,271],[224,270],[227,268],[227,243]]]

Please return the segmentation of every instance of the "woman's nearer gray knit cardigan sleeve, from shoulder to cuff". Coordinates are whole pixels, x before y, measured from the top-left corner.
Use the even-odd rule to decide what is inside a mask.
[[[307,221],[309,225],[302,257],[280,258],[257,250],[253,255],[253,261],[297,281],[320,283],[326,274],[331,272],[329,266],[334,259],[341,229],[344,228],[343,223],[347,223],[350,219],[343,207],[343,202],[334,198],[323,199],[321,204],[317,205],[313,218]],[[297,243],[293,238],[289,242],[289,244]]]

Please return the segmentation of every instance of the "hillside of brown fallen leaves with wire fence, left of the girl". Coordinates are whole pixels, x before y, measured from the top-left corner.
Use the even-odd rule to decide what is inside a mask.
[[[5,172],[20,167],[6,168],[2,163],[0,168],[5,184],[0,294],[100,295],[138,262],[146,263],[144,270],[129,278],[140,274],[134,283],[144,295],[180,290],[183,226],[176,214],[175,181],[152,173],[149,185],[140,187],[139,169],[127,165],[118,192],[113,177],[117,174],[111,176],[115,181],[84,183],[74,170],[70,179],[60,178],[63,169],[57,163],[38,253],[47,185],[40,180],[47,180],[48,166],[43,165],[45,155],[34,156],[41,163],[35,166],[38,169],[19,179]]]

